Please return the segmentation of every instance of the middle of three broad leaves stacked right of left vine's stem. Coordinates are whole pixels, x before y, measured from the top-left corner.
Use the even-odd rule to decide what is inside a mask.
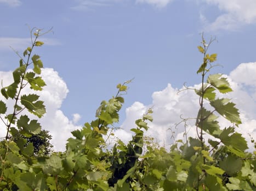
[[[32,114],[39,118],[45,114],[45,106],[42,101],[38,101],[39,96],[36,94],[29,94],[21,96],[21,104],[29,110]]]

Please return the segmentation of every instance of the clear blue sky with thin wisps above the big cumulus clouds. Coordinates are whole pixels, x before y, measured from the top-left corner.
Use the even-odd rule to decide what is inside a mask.
[[[210,52],[218,53],[223,67],[213,72],[229,75],[241,63],[255,62],[255,13],[254,0],[0,0],[0,70],[18,66],[9,46],[22,52],[29,45],[28,26],[53,27],[36,52],[53,69],[50,79],[61,81],[56,110],[70,126],[90,122],[117,83],[134,78],[122,124],[129,118],[125,108],[152,105],[154,92],[168,89],[168,83],[179,89],[184,82],[200,82],[202,32],[218,40]]]

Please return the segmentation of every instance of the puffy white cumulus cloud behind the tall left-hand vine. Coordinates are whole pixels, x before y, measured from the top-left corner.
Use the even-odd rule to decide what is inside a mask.
[[[13,82],[11,71],[0,71],[1,80],[3,80],[3,86],[7,86]],[[43,100],[47,113],[40,118],[38,121],[45,130],[49,130],[50,134],[53,136],[52,144],[54,145],[55,151],[64,151],[66,140],[70,138],[71,131],[81,128],[77,125],[80,119],[79,114],[73,114],[73,119],[69,119],[60,110],[61,104],[67,96],[69,89],[66,83],[59,74],[52,68],[42,69],[42,78],[44,79],[47,86],[44,87],[43,91],[36,92],[41,100]],[[24,89],[24,94],[31,92],[29,88]],[[8,102],[0,96],[1,100],[7,103],[9,112],[12,112],[13,100],[8,100]],[[22,115],[28,115],[31,119],[36,118],[32,114],[24,111]],[[1,129],[3,129],[3,124],[0,124]],[[5,136],[4,130],[0,131],[0,136]]]

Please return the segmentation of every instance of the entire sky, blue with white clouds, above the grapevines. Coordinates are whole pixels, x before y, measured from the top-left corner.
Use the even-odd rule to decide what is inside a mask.
[[[198,97],[193,91],[177,92],[184,83],[200,83],[202,32],[206,40],[216,39],[209,52],[218,53],[222,65],[211,73],[225,74],[234,89],[228,96],[243,122],[237,131],[247,140],[256,138],[255,0],[0,0],[0,23],[3,85],[12,82],[19,65],[13,49],[22,53],[29,46],[30,28],[52,28],[35,53],[44,63],[47,83],[38,93],[47,109],[39,121],[53,135],[55,150],[64,150],[70,132],[94,120],[101,100],[130,79],[116,136],[128,141],[134,120],[153,106],[146,134],[161,146],[171,144],[172,135],[183,139],[184,124],[175,124],[180,115],[197,115]],[[193,127],[192,121],[186,127],[191,136]]]

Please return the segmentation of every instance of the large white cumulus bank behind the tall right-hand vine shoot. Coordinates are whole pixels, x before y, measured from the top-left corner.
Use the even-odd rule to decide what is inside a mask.
[[[226,76],[230,81],[233,92],[228,94],[240,110],[242,124],[236,128],[248,141],[251,151],[253,144],[251,138],[256,138],[256,62],[242,63]],[[198,88],[195,85],[190,88]],[[227,95],[225,95],[226,97]],[[154,121],[149,123],[150,129],[146,135],[152,136],[161,146],[168,147],[174,139],[185,140],[187,136],[196,137],[195,118],[199,109],[198,96],[192,90],[181,91],[170,84],[162,91],[152,94],[152,104],[144,105],[135,102],[126,109],[126,120],[122,129],[129,132],[135,127],[134,121],[145,114],[145,111],[153,106]],[[191,118],[186,123],[179,123],[185,118]],[[219,117],[220,127],[229,127],[231,124],[223,117]],[[178,124],[179,123],[179,124]],[[177,126],[178,124],[178,126]],[[209,138],[209,136],[208,136]]]

